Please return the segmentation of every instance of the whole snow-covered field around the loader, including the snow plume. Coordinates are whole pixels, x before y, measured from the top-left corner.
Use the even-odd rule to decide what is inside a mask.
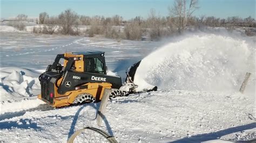
[[[200,32],[161,42],[117,42],[0,27],[0,141],[66,142],[84,126],[101,128],[118,141],[256,138],[255,37]],[[104,51],[110,74],[122,77],[144,58],[134,82],[139,88],[152,84],[159,90],[112,99],[102,127],[95,122],[100,103],[52,109],[36,98],[38,75],[57,54],[90,50]],[[252,75],[245,94],[240,94],[246,72]]]

